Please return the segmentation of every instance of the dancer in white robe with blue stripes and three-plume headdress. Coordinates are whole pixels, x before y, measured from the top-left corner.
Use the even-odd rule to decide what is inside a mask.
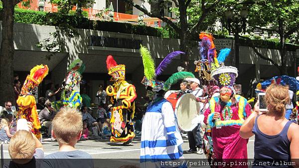
[[[143,168],[160,168],[161,161],[172,161],[182,158],[183,140],[181,138],[177,119],[173,112],[172,105],[163,97],[163,89],[168,90],[169,85],[178,82],[186,77],[194,77],[190,72],[177,72],[165,83],[155,80],[155,77],[162,73],[162,70],[171,62],[177,54],[169,54],[160,65],[154,67],[154,61],[149,50],[140,48],[143,58],[145,77],[142,83],[146,85],[147,97],[151,102],[147,107],[142,123],[140,162]]]

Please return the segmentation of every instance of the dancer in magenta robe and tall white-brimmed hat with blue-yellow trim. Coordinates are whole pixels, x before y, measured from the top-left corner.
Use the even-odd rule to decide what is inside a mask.
[[[210,99],[204,114],[205,124],[212,127],[214,159],[247,159],[248,139],[242,139],[239,130],[251,114],[251,106],[244,97],[235,94],[237,68],[219,64],[222,59],[219,56],[212,65],[211,77],[218,81],[220,96]]]

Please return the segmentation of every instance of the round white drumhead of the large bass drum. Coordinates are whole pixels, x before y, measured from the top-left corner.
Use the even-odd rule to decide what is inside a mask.
[[[193,123],[200,112],[200,104],[196,101],[196,97],[193,94],[183,94],[177,101],[175,106],[175,113],[177,116],[177,123],[181,130],[192,131],[198,123]]]

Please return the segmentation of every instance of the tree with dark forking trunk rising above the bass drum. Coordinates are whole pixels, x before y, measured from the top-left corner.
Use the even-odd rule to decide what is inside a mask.
[[[200,30],[206,30],[209,23],[215,22],[211,11],[215,9],[220,0],[149,0],[152,8],[165,7],[163,4],[174,2],[178,14],[178,22],[169,17],[165,17],[160,11],[154,12],[143,8],[141,5],[134,3],[132,0],[123,0],[141,10],[150,17],[157,17],[167,23],[177,34],[180,39],[180,50],[185,52],[181,57],[182,66],[189,69],[189,49],[192,46],[191,39],[198,39]],[[145,1],[145,0],[143,0]],[[210,15],[209,15],[210,14]],[[212,20],[212,21],[208,21]],[[207,23],[209,22],[209,23]]]

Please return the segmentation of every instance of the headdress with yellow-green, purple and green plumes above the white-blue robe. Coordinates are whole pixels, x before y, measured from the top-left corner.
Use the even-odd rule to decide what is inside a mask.
[[[161,61],[161,63],[156,69],[154,68],[154,61],[150,55],[148,48],[141,45],[140,54],[143,59],[144,72],[145,72],[145,77],[141,83],[153,88],[153,91],[159,91],[161,89],[167,90],[169,88],[169,85],[176,83],[180,79],[184,79],[186,77],[190,77],[193,75],[190,72],[175,73],[167,80],[168,81],[167,85],[164,85],[163,81],[158,81],[154,78],[162,74],[163,70],[167,67],[167,65],[169,65],[176,56],[180,54],[184,54],[184,52],[182,51],[171,52]]]

